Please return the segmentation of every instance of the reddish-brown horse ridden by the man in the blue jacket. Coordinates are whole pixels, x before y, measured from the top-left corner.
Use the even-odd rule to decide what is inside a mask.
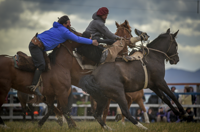
[[[54,99],[59,102],[59,109],[65,116],[69,128],[76,127],[76,124],[71,119],[70,108],[72,106],[72,91],[71,91],[71,75],[73,56],[70,54],[80,44],[76,42],[66,41],[61,44],[60,48],[55,48],[52,52],[55,63],[51,61],[51,70],[42,73],[43,89],[42,94],[46,97],[48,105],[48,113],[39,121],[39,126],[42,126],[48,116],[55,110]],[[26,72],[14,67],[13,58],[6,55],[0,55],[0,107],[5,101],[6,95],[10,88],[18,91],[34,94],[26,87],[31,84],[33,79],[32,72]],[[59,112],[59,111],[58,111]],[[5,126],[0,117],[0,125]]]

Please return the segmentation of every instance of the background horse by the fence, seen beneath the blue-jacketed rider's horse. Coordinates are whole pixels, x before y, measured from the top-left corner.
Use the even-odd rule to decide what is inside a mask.
[[[17,97],[19,99],[19,102],[22,106],[22,111],[23,111],[23,121],[26,121],[26,112],[28,112],[28,109],[30,110],[31,113],[31,120],[34,121],[34,110],[33,110],[33,105],[32,103],[29,103],[30,100],[33,98],[29,96],[29,94],[17,91]],[[28,107],[26,107],[26,104],[28,104]]]

